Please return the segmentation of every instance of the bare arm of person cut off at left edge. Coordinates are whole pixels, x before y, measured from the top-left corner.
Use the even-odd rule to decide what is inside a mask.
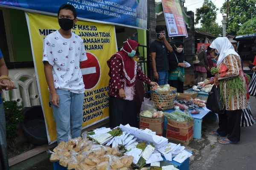
[[[6,63],[2,57],[0,58],[0,76],[7,76],[6,78],[8,78],[8,74]],[[0,89],[10,90],[15,88],[15,84],[6,78],[0,79]]]

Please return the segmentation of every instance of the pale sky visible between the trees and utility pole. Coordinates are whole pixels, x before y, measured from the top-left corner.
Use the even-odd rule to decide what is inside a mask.
[[[184,6],[187,7],[188,11],[193,11],[195,13],[196,8],[200,8],[203,5],[204,0],[186,0],[186,3],[184,3]],[[215,4],[217,8],[221,8],[222,4],[225,2],[225,0],[212,0],[212,2]],[[218,10],[217,11],[217,19],[216,22],[219,25],[222,25],[222,14]],[[200,24],[196,25],[195,27],[200,27]]]

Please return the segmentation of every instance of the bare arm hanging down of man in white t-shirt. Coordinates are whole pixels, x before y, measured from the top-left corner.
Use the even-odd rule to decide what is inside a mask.
[[[45,74],[45,78],[51,94],[52,105],[59,107],[58,106],[59,96],[55,90],[55,86],[53,82],[52,65],[50,65],[48,61],[44,61],[44,74]]]

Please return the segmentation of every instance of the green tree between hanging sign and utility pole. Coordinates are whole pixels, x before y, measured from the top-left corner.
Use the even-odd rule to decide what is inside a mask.
[[[216,21],[217,11],[211,0],[204,0],[203,6],[195,11],[195,24],[201,23],[202,27],[209,28]]]

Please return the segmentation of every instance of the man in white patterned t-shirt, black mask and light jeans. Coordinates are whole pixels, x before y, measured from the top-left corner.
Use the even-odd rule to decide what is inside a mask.
[[[71,31],[77,22],[70,4],[58,10],[60,29],[44,39],[44,73],[56,122],[58,143],[81,135],[84,82],[80,62],[87,59],[84,42]]]

